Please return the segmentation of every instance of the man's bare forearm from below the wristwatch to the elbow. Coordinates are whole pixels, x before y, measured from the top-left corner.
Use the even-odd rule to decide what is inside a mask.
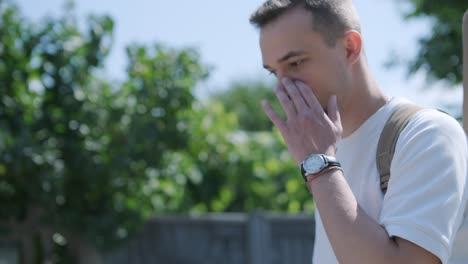
[[[322,175],[309,189],[340,263],[441,263],[416,244],[390,238],[359,206],[341,171]]]

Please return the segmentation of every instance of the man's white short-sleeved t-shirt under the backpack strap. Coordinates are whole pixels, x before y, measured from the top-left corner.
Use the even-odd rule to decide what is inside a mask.
[[[377,143],[392,99],[338,143],[337,159],[360,206],[390,236],[409,240],[442,263],[468,263],[467,141],[456,120],[433,109],[417,112],[398,139],[385,196],[376,165]],[[338,263],[318,210],[313,263]]]

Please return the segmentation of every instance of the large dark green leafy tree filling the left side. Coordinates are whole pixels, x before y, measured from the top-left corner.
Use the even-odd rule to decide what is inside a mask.
[[[207,75],[193,50],[134,45],[127,81],[111,85],[96,72],[112,19],[77,24],[0,6],[0,225],[23,263],[99,261],[95,248],[167,210],[155,201],[170,187],[154,182],[164,153],[188,145],[179,116]]]

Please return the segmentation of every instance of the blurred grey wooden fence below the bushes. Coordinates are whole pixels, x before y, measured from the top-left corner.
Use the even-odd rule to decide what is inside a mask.
[[[310,264],[314,220],[254,213],[156,217],[108,264]]]

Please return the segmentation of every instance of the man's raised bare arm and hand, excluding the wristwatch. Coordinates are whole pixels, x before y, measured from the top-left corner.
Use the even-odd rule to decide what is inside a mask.
[[[299,164],[311,153],[334,156],[336,142],[342,134],[336,97],[330,100],[325,114],[315,95],[301,82],[285,79],[275,93],[287,120],[282,120],[266,102],[264,110],[280,130],[296,162]],[[441,262],[409,241],[391,238],[359,206],[341,171],[321,175],[309,184],[309,189],[340,263]]]

